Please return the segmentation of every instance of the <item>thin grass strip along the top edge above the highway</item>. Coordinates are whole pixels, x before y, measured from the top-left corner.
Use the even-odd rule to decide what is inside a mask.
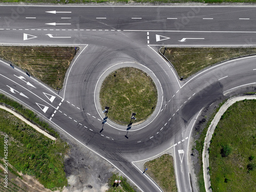
[[[52,3],[52,4],[90,4],[90,3],[255,3],[255,0],[1,0],[1,3]]]

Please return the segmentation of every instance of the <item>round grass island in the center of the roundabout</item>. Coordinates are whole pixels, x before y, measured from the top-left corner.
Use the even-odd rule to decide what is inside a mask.
[[[157,89],[154,81],[145,72],[136,68],[121,68],[112,72],[102,83],[100,104],[102,110],[109,106],[108,118],[127,125],[132,113],[137,113],[141,122],[148,118],[156,108]]]

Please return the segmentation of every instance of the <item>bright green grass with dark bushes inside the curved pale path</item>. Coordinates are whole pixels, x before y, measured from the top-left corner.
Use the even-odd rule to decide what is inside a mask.
[[[255,119],[256,100],[236,102],[221,117],[210,144],[212,191],[255,191]]]

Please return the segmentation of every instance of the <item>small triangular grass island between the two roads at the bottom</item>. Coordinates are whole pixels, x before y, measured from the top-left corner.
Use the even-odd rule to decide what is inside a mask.
[[[165,192],[178,191],[175,179],[174,160],[170,155],[147,161],[144,170]]]

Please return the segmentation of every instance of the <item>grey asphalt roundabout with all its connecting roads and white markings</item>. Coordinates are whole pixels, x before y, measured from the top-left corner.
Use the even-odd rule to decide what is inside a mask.
[[[256,85],[256,58],[227,61],[181,81],[158,49],[255,46],[255,14],[254,6],[0,6],[2,45],[80,47],[59,93],[4,61],[0,91],[108,160],[142,191],[162,190],[136,162],[172,148],[178,190],[192,191],[191,129],[201,110],[225,93]],[[159,96],[151,118],[128,130],[103,123],[98,103],[104,76],[125,66],[147,72]]]

